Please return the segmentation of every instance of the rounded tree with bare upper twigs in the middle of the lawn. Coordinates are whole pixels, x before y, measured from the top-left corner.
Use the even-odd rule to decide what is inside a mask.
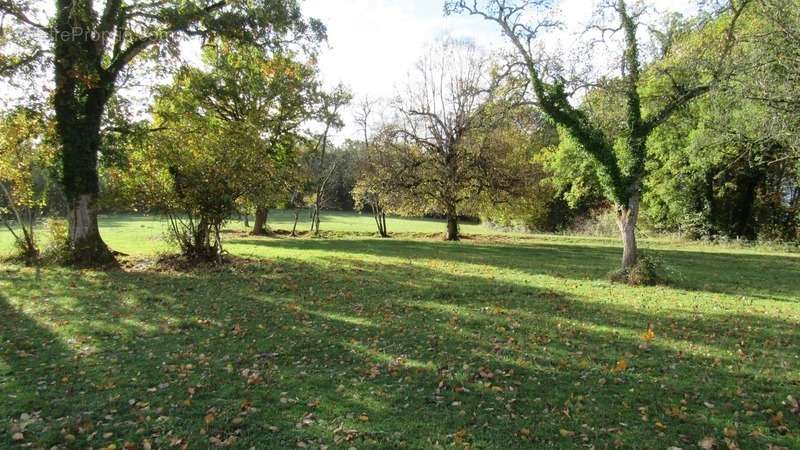
[[[492,63],[474,43],[446,38],[417,63],[395,101],[391,146],[396,187],[418,211],[447,218],[445,238],[459,240],[458,218],[499,178],[481,133],[503,115],[489,107]]]

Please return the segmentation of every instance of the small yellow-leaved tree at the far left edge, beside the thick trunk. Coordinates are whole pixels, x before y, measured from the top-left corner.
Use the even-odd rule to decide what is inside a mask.
[[[47,201],[55,151],[48,122],[18,109],[0,117],[0,219],[27,263],[39,257],[36,219]]]

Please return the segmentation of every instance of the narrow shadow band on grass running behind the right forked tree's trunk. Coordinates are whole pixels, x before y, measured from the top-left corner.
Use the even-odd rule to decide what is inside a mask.
[[[453,244],[437,241],[332,239],[243,239],[235,244],[298,251],[346,252],[408,259],[435,259],[489,265],[530,275],[603,280],[617,266],[614,247],[576,243]],[[663,263],[671,287],[761,299],[800,301],[800,258],[645,249]]]

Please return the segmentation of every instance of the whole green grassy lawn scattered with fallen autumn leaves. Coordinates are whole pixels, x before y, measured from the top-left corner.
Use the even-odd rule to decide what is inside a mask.
[[[125,270],[0,264],[0,448],[800,448],[797,254],[645,241],[673,282],[632,288],[613,239],[322,228],[177,271],[108,217]]]

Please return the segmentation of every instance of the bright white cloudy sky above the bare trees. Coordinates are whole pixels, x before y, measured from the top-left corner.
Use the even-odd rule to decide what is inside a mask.
[[[583,30],[596,7],[596,0],[560,0],[565,29],[552,34],[549,45],[568,49]],[[658,12],[690,14],[691,0],[646,0]],[[328,43],[320,55],[320,70],[326,85],[344,83],[356,100],[391,98],[406,79],[425,48],[443,35],[471,38],[492,50],[506,44],[500,30],[479,17],[445,17],[443,0],[304,0],[304,13],[323,21]],[[338,138],[355,137],[352,111]]]

